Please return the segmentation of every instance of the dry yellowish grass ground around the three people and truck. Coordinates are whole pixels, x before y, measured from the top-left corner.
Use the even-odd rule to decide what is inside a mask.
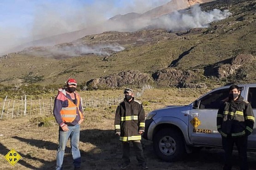
[[[150,89],[146,90],[139,101],[144,103],[146,113],[167,105],[189,104],[208,91],[198,89]],[[121,91],[90,91],[86,95],[120,94]],[[82,96],[85,93],[81,94]],[[121,162],[121,145],[114,135],[114,112],[116,106],[105,108],[85,108],[85,121],[81,125],[80,151],[83,170],[117,170]],[[44,126],[39,126],[44,122]],[[41,124],[42,125],[42,124]],[[54,170],[58,146],[58,125],[53,115],[48,113],[5,119],[0,121],[0,170]],[[158,159],[153,151],[152,142],[142,140],[144,154],[152,170],[219,170],[222,166],[221,149],[202,149],[187,155],[182,161],[167,163]],[[4,156],[15,149],[22,159],[12,166]],[[131,152],[131,168],[138,169],[137,160]],[[250,167],[256,167],[255,153],[249,153]],[[238,159],[237,153],[234,158]],[[238,165],[236,164],[236,169]],[[64,169],[72,170],[70,143],[65,152]]]

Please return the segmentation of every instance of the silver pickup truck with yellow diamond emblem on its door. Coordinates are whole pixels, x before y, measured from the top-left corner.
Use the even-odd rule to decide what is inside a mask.
[[[238,86],[256,116],[256,84]],[[228,89],[229,85],[216,88],[186,106],[168,106],[150,112],[143,138],[153,141],[156,155],[165,161],[178,160],[195,148],[222,147],[216,117]],[[256,124],[248,137],[248,150],[256,151]]]

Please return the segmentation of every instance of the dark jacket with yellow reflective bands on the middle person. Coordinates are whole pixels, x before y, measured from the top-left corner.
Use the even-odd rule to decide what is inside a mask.
[[[115,132],[120,133],[120,141],[141,140],[138,132],[145,129],[145,112],[142,104],[134,98],[131,102],[124,99],[116,109],[114,125]]]

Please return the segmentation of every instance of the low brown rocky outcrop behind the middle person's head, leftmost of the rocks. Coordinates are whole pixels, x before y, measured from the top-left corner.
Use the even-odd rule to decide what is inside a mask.
[[[117,88],[124,85],[142,86],[151,84],[153,79],[149,74],[139,71],[123,71],[118,74],[112,74],[107,77],[89,80],[86,85],[89,90]]]

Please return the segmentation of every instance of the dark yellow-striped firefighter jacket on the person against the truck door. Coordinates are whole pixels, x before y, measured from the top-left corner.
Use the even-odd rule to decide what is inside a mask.
[[[249,102],[239,96],[236,101],[224,102],[217,113],[217,129],[223,137],[250,135],[254,114]]]

